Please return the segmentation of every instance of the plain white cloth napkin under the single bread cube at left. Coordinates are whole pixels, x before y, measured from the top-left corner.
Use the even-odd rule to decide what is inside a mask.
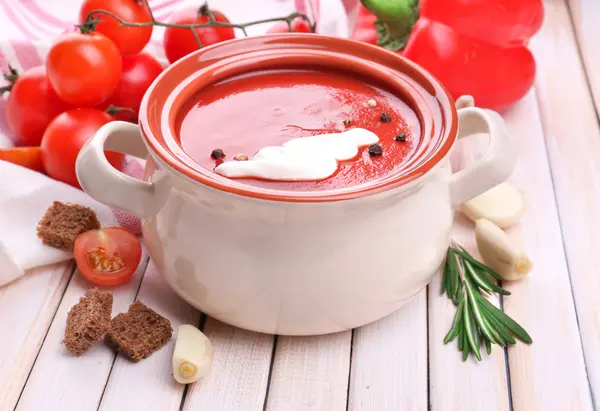
[[[83,191],[43,174],[0,161],[0,286],[30,268],[73,258],[71,252],[44,245],[36,235],[54,201],[90,207],[102,226],[119,225],[112,210]]]

